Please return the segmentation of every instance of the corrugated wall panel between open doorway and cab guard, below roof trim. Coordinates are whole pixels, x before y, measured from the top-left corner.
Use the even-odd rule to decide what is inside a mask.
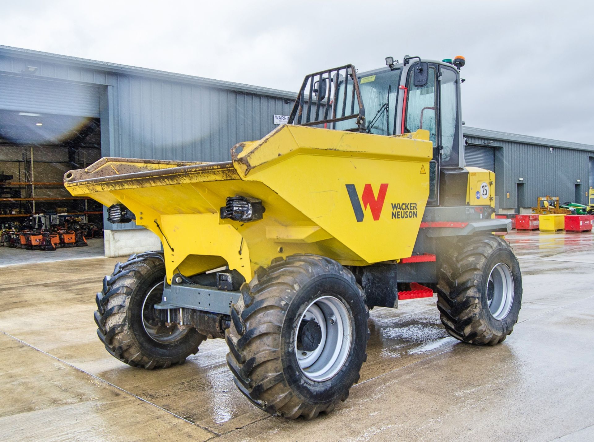
[[[115,96],[118,157],[227,161],[238,142],[276,128],[292,102],[198,85],[119,76]]]

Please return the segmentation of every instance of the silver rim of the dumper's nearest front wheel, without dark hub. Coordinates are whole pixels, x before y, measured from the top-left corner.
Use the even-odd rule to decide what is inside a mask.
[[[321,328],[320,344],[313,351],[299,350],[295,336],[295,355],[305,376],[322,382],[331,379],[345,365],[353,339],[350,314],[338,298],[321,296],[305,309],[295,332],[299,332],[303,321],[310,320]]]

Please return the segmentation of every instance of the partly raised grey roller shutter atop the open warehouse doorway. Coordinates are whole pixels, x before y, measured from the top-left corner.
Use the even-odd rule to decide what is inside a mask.
[[[99,87],[0,75],[0,109],[99,117]]]

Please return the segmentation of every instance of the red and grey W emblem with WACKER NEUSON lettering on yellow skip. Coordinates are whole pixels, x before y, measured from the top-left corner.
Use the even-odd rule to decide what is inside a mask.
[[[386,183],[380,185],[377,196],[371,187],[371,184],[366,184],[359,199],[359,194],[354,184],[347,184],[346,191],[349,193],[350,204],[353,206],[353,212],[355,212],[355,219],[357,222],[363,221],[365,217],[364,209],[371,211],[371,216],[374,221],[380,219],[381,210],[384,207],[384,201],[386,201],[386,192],[388,191],[388,185]],[[361,206],[363,203],[363,206]],[[393,202],[391,219],[393,220],[405,220],[406,218],[418,217],[418,209],[416,202]]]

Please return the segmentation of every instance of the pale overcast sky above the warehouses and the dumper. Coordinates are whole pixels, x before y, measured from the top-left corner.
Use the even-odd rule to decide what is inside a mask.
[[[467,126],[594,144],[592,1],[286,3],[0,0],[0,44],[290,91],[463,55]]]

